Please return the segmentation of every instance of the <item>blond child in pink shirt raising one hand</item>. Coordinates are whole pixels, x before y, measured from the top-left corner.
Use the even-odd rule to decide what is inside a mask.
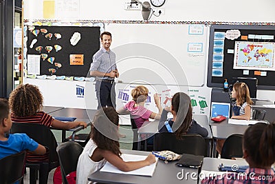
[[[148,89],[143,85],[138,85],[131,91],[133,97],[132,101],[129,101],[124,107],[118,110],[118,114],[131,114],[135,120],[137,128],[140,128],[144,121],[151,119],[160,119],[162,114],[162,105],[159,103],[159,96],[154,94],[155,105],[157,105],[158,113],[152,112],[144,107],[144,103],[148,98]]]

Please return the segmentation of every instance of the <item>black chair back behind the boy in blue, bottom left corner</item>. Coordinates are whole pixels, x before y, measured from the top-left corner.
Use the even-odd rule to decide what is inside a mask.
[[[0,183],[10,184],[21,181],[25,171],[26,151],[6,156],[0,160]]]

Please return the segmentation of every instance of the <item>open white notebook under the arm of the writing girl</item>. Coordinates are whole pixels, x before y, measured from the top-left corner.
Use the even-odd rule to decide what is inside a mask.
[[[122,154],[121,155],[123,161],[143,161],[144,159],[146,159],[147,156],[143,156],[143,155],[134,155],[134,154]],[[155,172],[155,167],[157,165],[157,158],[156,162],[142,167],[140,169],[137,170],[133,170],[130,172],[123,172],[121,170],[118,170],[117,167],[111,165],[111,163],[107,162],[102,169],[100,170],[100,172],[112,172],[112,173],[118,173],[118,174],[131,174],[131,175],[140,175],[140,176],[153,176],[153,173]]]

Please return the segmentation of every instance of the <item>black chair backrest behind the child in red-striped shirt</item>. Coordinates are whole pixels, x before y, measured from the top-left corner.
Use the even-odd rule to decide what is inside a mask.
[[[37,143],[49,148],[49,161],[58,161],[56,138],[49,127],[37,123],[12,123],[11,133],[25,133]]]

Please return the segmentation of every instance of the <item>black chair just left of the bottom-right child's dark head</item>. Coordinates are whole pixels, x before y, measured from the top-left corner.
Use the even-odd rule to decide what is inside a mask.
[[[221,148],[221,159],[243,157],[243,135],[232,134],[225,139]]]

